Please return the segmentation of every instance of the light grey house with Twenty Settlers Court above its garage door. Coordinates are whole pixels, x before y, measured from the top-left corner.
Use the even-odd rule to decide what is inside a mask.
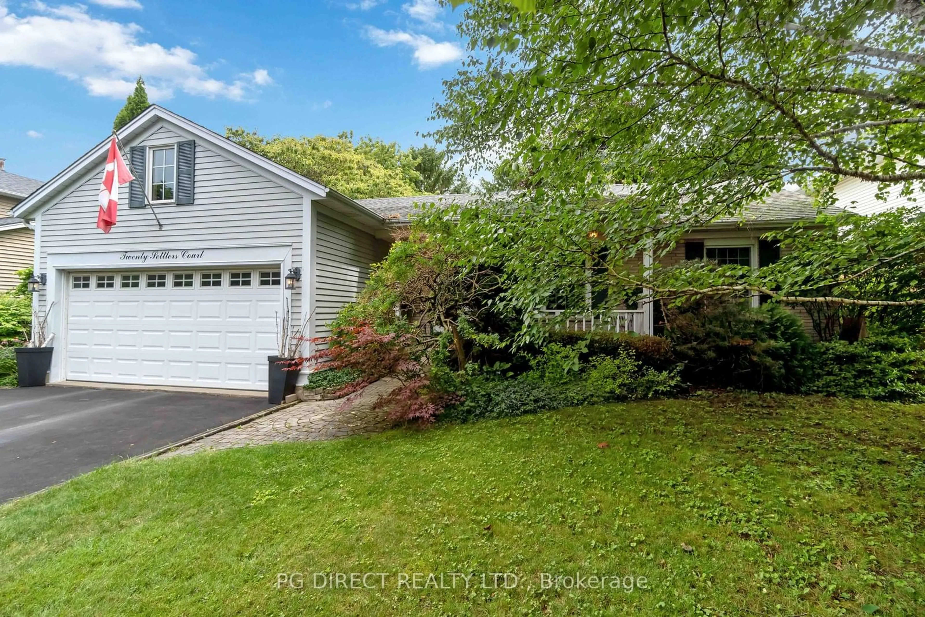
[[[142,181],[122,187],[109,234],[96,228],[108,137],[13,213],[36,230],[53,382],[265,390],[287,307],[306,337],[326,335],[422,200],[352,200],[157,105],[118,134]],[[763,230],[815,216],[807,198],[783,193],[749,213],[698,231],[670,259],[695,247],[759,265]],[[651,331],[651,307],[641,315],[630,329]]]

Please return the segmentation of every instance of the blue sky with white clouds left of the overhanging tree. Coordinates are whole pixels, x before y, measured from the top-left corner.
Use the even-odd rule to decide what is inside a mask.
[[[50,179],[105,138],[139,74],[154,103],[218,132],[419,144],[465,55],[461,12],[436,0],[0,0],[0,157]]]

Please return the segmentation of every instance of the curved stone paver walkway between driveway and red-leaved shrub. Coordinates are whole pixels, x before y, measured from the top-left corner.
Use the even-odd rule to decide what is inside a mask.
[[[277,413],[257,418],[246,425],[193,441],[162,456],[192,454],[202,450],[224,450],[241,446],[262,446],[279,441],[319,441],[362,435],[385,430],[391,421],[383,410],[374,410],[373,403],[395,388],[396,382],[382,379],[359,394],[352,395],[348,406],[344,400],[305,401]]]

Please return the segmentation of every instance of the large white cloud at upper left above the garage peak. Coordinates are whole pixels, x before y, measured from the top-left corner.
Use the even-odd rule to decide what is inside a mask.
[[[180,91],[237,101],[265,85],[262,81],[271,80],[263,69],[248,79],[216,80],[189,49],[141,41],[143,29],[138,24],[94,19],[81,5],[52,7],[35,2],[31,6],[37,14],[19,17],[0,0],[0,66],[51,70],[80,81],[94,96],[112,98],[127,96],[139,75],[152,100],[168,99]]]

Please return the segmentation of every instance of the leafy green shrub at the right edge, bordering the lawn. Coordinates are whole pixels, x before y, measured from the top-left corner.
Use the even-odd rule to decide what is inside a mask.
[[[808,391],[879,401],[925,401],[925,350],[919,339],[877,337],[819,343]]]

